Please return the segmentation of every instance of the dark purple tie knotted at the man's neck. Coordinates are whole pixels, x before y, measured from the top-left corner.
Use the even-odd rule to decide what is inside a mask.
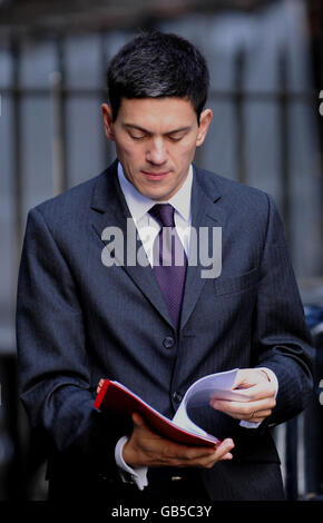
[[[175,228],[174,207],[170,204],[157,204],[149,210],[149,214],[161,225],[154,243],[154,273],[177,328],[187,258]]]

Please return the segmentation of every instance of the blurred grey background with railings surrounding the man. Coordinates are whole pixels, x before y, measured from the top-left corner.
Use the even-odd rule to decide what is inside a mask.
[[[0,0],[0,500],[43,500],[19,403],[14,308],[28,210],[104,170],[110,57],[143,29],[206,56],[212,129],[196,164],[258,187],[284,220],[315,345],[306,411],[275,428],[290,500],[323,499],[322,0]]]

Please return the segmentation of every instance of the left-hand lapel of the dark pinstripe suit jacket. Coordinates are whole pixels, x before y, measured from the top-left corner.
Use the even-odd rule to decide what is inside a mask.
[[[146,258],[146,266],[141,266],[136,263],[138,249],[140,249],[143,254],[145,251],[141,241],[137,238],[135,224],[131,220],[128,206],[118,182],[117,165],[118,162],[115,161],[98,178],[95,187],[91,201],[91,208],[95,211],[92,220],[94,229],[102,239],[102,231],[107,227],[118,228],[123,237],[123,248],[119,251],[116,251],[117,249],[115,249],[111,254],[114,254],[116,262],[121,266],[121,269],[128,274],[135,285],[137,285],[137,287],[144,293],[146,298],[173,327],[167,305],[148,259]],[[127,235],[130,227],[134,233],[134,241],[129,241],[129,236]],[[106,244],[104,239],[102,241]],[[110,248],[109,245],[106,245],[106,247],[111,251],[114,250],[114,243],[110,241]],[[144,257],[146,255],[144,254]],[[127,260],[131,260],[130,263],[134,263],[134,265],[127,264]]]

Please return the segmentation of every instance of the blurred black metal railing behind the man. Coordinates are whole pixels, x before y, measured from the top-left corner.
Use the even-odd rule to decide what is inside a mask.
[[[21,107],[22,101],[30,98],[45,98],[48,100],[51,107],[52,114],[52,140],[55,144],[55,165],[53,165],[53,177],[55,177],[55,193],[60,193],[70,187],[70,179],[68,176],[68,155],[67,148],[67,102],[74,97],[82,97],[84,99],[96,99],[106,100],[107,91],[104,87],[84,88],[84,87],[71,87],[67,83],[67,70],[63,55],[63,48],[61,40],[57,42],[57,70],[50,76],[50,82],[48,87],[25,87],[21,83],[21,47],[20,42],[13,41],[10,48],[10,56],[12,62],[12,77],[11,85],[8,87],[0,86],[0,93],[2,100],[7,97],[11,100],[12,105],[12,121],[8,132],[11,134],[12,142],[12,206],[14,214],[14,259],[18,270],[21,243],[25,229],[25,216],[23,216],[23,166],[22,166],[22,132],[21,132]],[[105,66],[107,63],[107,55],[105,46],[101,46],[101,67],[102,67],[102,86],[105,76]],[[280,166],[280,190],[282,196],[282,208],[283,219],[285,224],[286,235],[291,236],[292,231],[292,206],[291,199],[291,184],[293,182],[291,177],[290,167],[290,126],[288,126],[288,107],[294,102],[305,102],[313,107],[313,111],[319,116],[319,92],[314,90],[301,91],[291,90],[287,88],[286,79],[286,57],[282,52],[278,61],[278,77],[280,88],[277,90],[244,90],[243,77],[245,67],[245,55],[244,51],[236,55],[235,60],[235,89],[232,90],[218,90],[213,89],[209,95],[211,101],[231,101],[234,105],[235,110],[235,125],[238,129],[237,134],[237,157],[238,157],[238,174],[237,179],[244,184],[248,182],[248,172],[246,165],[246,146],[245,146],[245,126],[244,120],[244,105],[245,102],[256,101],[266,103],[274,103],[280,111],[280,146],[281,146],[281,166]],[[111,156],[112,152],[107,152],[105,148],[104,152],[107,157]],[[198,151],[199,159],[203,162],[203,151]],[[111,159],[111,158],[107,158]],[[322,169],[323,172],[323,169]],[[323,195],[323,193],[322,193]],[[49,195],[52,196],[52,195]],[[323,209],[323,206],[321,207]],[[323,214],[321,210],[321,224],[323,229]],[[323,234],[322,234],[323,237]],[[14,289],[16,295],[16,289]],[[12,297],[12,302],[14,297]],[[1,343],[1,341],[0,341]],[[17,398],[12,397],[12,411],[11,415],[17,414]],[[14,406],[16,405],[16,406]],[[10,426],[14,437],[17,436],[19,421],[11,421]],[[296,499],[297,496],[297,460],[295,450],[295,433],[297,432],[296,422],[292,421],[286,431],[286,465],[287,465],[287,493],[290,499]]]

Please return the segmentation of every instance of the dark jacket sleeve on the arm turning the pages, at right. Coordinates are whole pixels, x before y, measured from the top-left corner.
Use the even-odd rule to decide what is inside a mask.
[[[313,388],[311,345],[283,225],[268,197],[253,346],[256,366],[272,369],[278,381],[270,423],[282,423],[305,407]]]

